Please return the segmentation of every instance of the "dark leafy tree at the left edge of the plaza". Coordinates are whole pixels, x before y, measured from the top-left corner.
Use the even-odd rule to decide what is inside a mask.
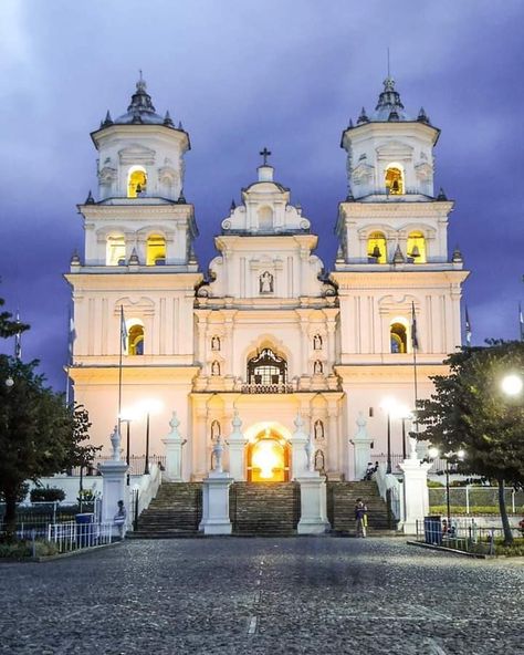
[[[65,471],[92,460],[96,451],[84,444],[91,425],[86,410],[65,406],[62,394],[44,386],[36,365],[0,355],[0,492],[8,538],[14,534],[17,499],[25,480]]]

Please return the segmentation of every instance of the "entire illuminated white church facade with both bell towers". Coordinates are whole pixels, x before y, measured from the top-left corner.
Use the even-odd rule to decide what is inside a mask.
[[[147,428],[149,451],[161,455],[176,412],[185,481],[209,474],[235,415],[241,480],[294,479],[297,414],[327,479],[361,478],[388,441],[400,454],[406,409],[385,401],[412,409],[461,344],[468,273],[460,252],[449,253],[453,202],[433,189],[439,134],[423,111],[406,114],[389,77],[375,112],[343,132],[348,193],[331,272],[264,149],[258,178],[217,222],[218,256],[205,273],[182,190],[189,135],[156,113],[140,80],[127,112],[92,134],[98,193],[78,206],[85,249],[66,274],[69,371],[92,440],[106,445],[120,412],[132,453],[145,451]],[[226,469],[228,458],[227,448]]]

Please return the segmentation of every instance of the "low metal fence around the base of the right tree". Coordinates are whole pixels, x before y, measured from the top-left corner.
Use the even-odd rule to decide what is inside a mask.
[[[495,542],[504,537],[500,527],[480,528],[474,519],[451,519],[450,526],[440,517],[426,517],[417,521],[416,541],[431,545],[441,545],[476,554],[495,554]],[[521,530],[513,528],[515,538]]]

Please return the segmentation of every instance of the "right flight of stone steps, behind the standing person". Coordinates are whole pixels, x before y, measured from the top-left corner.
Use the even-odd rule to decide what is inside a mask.
[[[355,501],[361,498],[368,509],[368,536],[396,534],[397,522],[380,498],[376,482],[327,482],[327,519],[339,534],[355,533]]]

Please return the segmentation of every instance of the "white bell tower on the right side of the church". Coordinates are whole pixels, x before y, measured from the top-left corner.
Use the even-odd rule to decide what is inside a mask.
[[[439,136],[423,108],[407,112],[389,75],[375,111],[363,108],[342,134],[348,187],[338,208],[332,278],[348,429],[359,410],[380,403],[377,393],[413,408],[417,384],[418,397],[428,396],[429,377],[443,372],[447,354],[461,344],[468,272],[460,251],[450,256],[448,248],[453,201],[434,191]]]

